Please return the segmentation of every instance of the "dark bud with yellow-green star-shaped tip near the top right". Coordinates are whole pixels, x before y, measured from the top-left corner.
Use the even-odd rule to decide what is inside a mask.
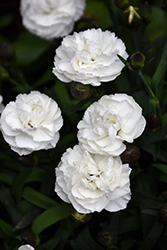
[[[129,6],[122,14],[122,20],[128,27],[135,28],[142,22],[140,9]]]

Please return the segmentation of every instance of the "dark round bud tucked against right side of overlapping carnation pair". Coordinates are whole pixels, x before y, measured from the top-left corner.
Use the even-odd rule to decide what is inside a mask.
[[[123,163],[133,164],[140,158],[140,150],[134,144],[127,144],[126,150],[121,154]]]

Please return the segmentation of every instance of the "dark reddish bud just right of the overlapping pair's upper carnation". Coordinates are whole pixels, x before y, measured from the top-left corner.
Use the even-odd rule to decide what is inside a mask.
[[[146,128],[155,131],[160,127],[160,119],[157,114],[150,112],[146,115]]]

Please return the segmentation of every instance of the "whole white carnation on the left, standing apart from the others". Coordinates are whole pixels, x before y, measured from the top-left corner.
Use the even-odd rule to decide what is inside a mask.
[[[62,125],[57,103],[38,91],[19,94],[15,102],[6,105],[1,115],[3,137],[19,155],[54,148]]]

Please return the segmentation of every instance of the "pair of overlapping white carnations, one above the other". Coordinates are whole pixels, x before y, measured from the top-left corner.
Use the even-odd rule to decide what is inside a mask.
[[[56,168],[55,191],[79,213],[119,211],[131,197],[128,164],[120,154],[145,128],[142,109],[126,94],[103,96],[78,124],[79,145]]]

